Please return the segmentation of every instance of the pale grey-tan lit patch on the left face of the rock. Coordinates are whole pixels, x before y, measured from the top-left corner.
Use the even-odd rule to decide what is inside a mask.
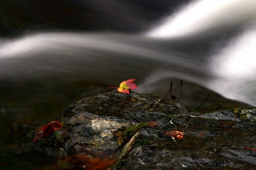
[[[132,122],[125,122],[108,116],[97,116],[88,112],[77,113],[71,118],[65,119],[70,125],[70,142],[79,143],[94,150],[116,151],[117,140],[113,138],[113,130],[122,129]]]

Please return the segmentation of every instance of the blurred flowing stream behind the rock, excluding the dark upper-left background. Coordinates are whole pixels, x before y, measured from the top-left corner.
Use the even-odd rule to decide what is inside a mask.
[[[139,92],[256,105],[256,1],[195,0],[140,34],[42,32],[0,40],[0,103],[25,120],[137,79]],[[230,33],[231,32],[231,33]],[[224,38],[223,38],[224,37]],[[228,101],[225,98],[237,100]],[[214,98],[214,97],[213,97]]]

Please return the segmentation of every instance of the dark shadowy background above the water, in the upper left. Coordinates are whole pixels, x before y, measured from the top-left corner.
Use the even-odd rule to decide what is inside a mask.
[[[1,0],[0,36],[45,30],[137,32],[188,1]]]

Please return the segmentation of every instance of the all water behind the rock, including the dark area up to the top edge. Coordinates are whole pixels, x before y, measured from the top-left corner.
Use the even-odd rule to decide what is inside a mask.
[[[125,79],[162,96],[171,81],[179,96],[183,79],[180,101],[191,108],[208,97],[203,108],[256,106],[256,3],[188,2],[0,2],[5,124],[51,121]]]

